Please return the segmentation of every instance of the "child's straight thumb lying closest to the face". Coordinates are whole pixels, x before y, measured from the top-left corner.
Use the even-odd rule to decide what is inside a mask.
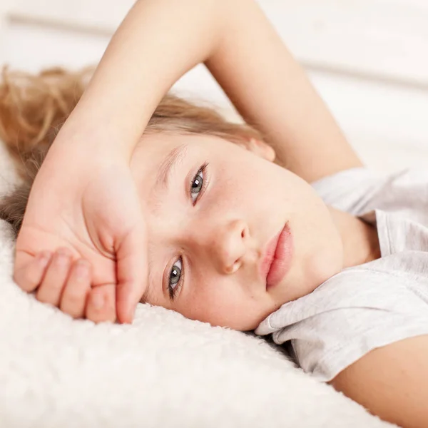
[[[117,297],[116,307],[120,322],[132,322],[137,303],[147,287],[146,230],[140,223],[131,230],[116,250]]]

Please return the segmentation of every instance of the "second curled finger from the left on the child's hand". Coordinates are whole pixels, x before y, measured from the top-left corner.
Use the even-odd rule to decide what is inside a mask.
[[[59,306],[61,292],[68,277],[71,265],[71,251],[59,248],[49,264],[43,281],[36,293],[37,300]]]

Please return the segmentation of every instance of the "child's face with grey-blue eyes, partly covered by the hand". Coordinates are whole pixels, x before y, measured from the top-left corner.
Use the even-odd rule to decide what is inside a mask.
[[[147,225],[143,301],[253,330],[342,269],[340,234],[315,190],[272,163],[263,143],[247,148],[143,137],[131,161]],[[282,258],[272,263],[274,254]]]

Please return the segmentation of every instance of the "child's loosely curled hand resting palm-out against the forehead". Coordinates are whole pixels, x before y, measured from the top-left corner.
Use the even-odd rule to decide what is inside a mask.
[[[69,251],[69,275],[56,265],[57,256],[46,276],[37,274],[36,256],[58,248]],[[80,259],[91,266],[90,290],[71,275]],[[16,241],[16,283],[27,292],[40,286],[36,297],[59,307],[67,293],[86,293],[88,319],[131,322],[146,266],[146,230],[126,159],[55,142],[34,180]],[[82,314],[81,307],[72,311]]]

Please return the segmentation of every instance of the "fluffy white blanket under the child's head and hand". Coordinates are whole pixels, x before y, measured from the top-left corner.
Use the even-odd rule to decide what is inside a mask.
[[[391,426],[258,337],[148,305],[133,325],[71,320],[11,280],[10,232],[0,220],[2,428]]]

